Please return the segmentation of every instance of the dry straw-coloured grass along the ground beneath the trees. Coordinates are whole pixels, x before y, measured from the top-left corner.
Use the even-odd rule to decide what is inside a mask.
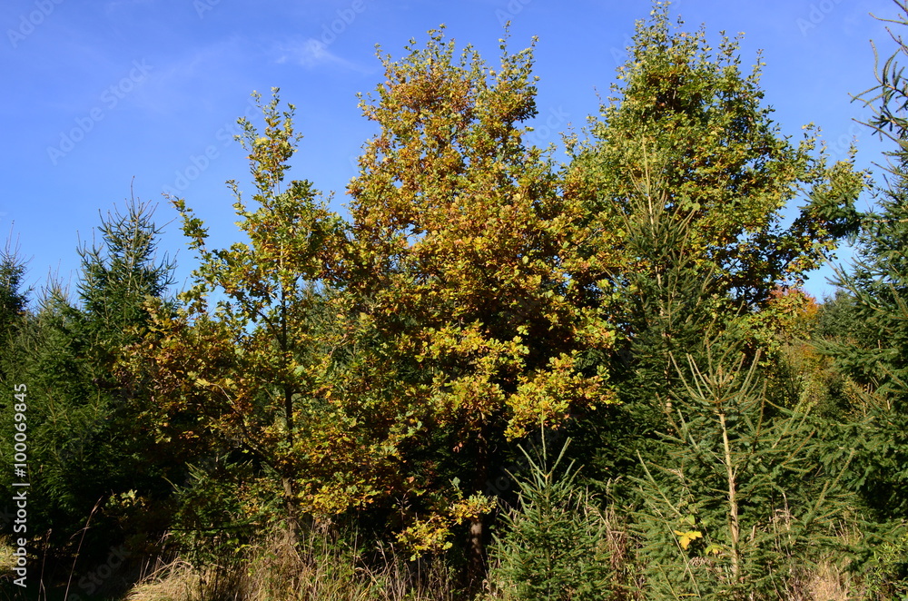
[[[613,512],[603,513],[617,601],[646,598],[646,581],[635,561],[635,540]],[[783,520],[784,521],[784,520]],[[843,535],[844,536],[844,535]],[[491,574],[496,574],[495,565]],[[482,601],[516,598],[507,583],[487,583]],[[786,601],[846,601],[868,598],[841,564],[824,560],[790,577],[779,598]],[[125,601],[456,601],[456,580],[442,562],[419,564],[393,549],[364,550],[331,535],[327,526],[293,537],[271,533],[240,557],[220,566],[192,566],[183,560],[157,569]]]

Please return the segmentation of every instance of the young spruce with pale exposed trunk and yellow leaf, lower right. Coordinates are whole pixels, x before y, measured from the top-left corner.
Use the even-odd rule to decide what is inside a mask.
[[[788,598],[812,562],[842,552],[851,457],[823,465],[805,406],[768,402],[765,374],[740,345],[709,343],[704,360],[686,362],[673,434],[635,478],[647,598]]]

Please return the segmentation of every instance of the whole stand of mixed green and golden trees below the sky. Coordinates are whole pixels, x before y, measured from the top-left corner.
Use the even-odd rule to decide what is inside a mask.
[[[7,245],[6,595],[908,598],[895,5],[857,97],[892,144],[880,181],[782,135],[759,59],[657,2],[565,163],[525,141],[533,46],[491,67],[441,28],[380,54],[348,212],[289,178],[274,90],[240,120],[237,241],[169,199],[188,289],[137,200],[74,291],[28,289]],[[804,274],[844,242],[820,302]]]

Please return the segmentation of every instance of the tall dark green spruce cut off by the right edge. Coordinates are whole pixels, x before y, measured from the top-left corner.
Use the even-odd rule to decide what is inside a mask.
[[[901,13],[888,22],[896,49],[877,64],[877,84],[858,96],[874,112],[866,124],[895,148],[876,207],[864,217],[854,264],[839,273],[844,293],[831,304],[832,344],[823,349],[847,376],[851,410],[869,419],[842,427],[857,449],[853,485],[873,517],[899,523],[908,510],[908,44],[899,33],[908,25],[908,3],[895,5]]]

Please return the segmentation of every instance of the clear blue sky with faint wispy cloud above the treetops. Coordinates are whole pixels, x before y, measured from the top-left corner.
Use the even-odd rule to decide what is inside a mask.
[[[410,38],[421,43],[445,24],[492,63],[505,20],[512,50],[538,35],[532,139],[544,145],[597,113],[597,91],[607,95],[649,9],[645,0],[6,0],[0,233],[18,239],[35,287],[54,273],[73,288],[79,241],[92,240],[99,211],[122,205],[132,185],[137,198],[158,202],[157,222],[170,222],[161,245],[175,254],[182,284],[192,254],[162,192],[183,196],[215,244],[237,240],[224,182],[252,189],[232,133],[238,117],[256,114],[253,90],[267,98],[278,86],[297,105],[305,137],[291,177],[333,192],[342,211],[374,133],[356,94],[382,79],[375,44],[400,57]],[[782,133],[798,137],[813,122],[834,155],[844,158],[854,139],[859,165],[883,160],[889,146],[852,121],[867,111],[850,94],[873,84],[870,40],[883,54],[892,47],[869,15],[893,17],[891,0],[680,0],[672,11],[690,29],[706,25],[711,40],[744,32],[745,65],[763,49],[765,101]],[[829,275],[815,274],[808,291],[828,293]]]

